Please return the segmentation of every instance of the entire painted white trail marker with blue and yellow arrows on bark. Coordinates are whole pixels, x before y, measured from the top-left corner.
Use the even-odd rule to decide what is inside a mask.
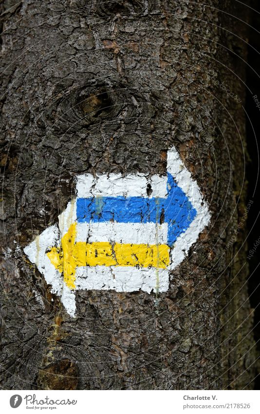
[[[24,249],[71,316],[79,289],[166,292],[169,271],[210,220],[176,149],[166,176],[86,174],[76,189],[58,225]]]

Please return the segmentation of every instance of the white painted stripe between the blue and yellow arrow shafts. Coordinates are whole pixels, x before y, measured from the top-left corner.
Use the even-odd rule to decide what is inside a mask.
[[[77,223],[77,241],[108,241],[130,244],[167,244],[168,224],[156,223]]]

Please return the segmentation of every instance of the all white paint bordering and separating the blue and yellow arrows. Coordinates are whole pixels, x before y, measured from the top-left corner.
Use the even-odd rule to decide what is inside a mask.
[[[205,226],[210,214],[207,203],[203,200],[198,184],[183,164],[176,149],[167,154],[167,171],[174,177],[178,186],[184,191],[197,215],[186,230],[174,243],[170,252],[168,269],[95,266],[76,269],[76,290],[98,289],[116,292],[166,292],[169,286],[169,271],[173,270],[185,258],[190,246],[194,244]],[[147,187],[151,185],[152,193],[148,196]],[[128,175],[104,174],[93,177],[91,174],[77,177],[77,197],[167,197],[167,176],[145,174]],[[76,200],[68,203],[66,210],[60,214],[59,227],[47,228],[29,246],[25,254],[44,275],[46,282],[52,285],[52,292],[61,297],[69,315],[76,313],[75,292],[63,282],[63,277],[46,256],[53,246],[60,245],[61,238],[76,221]],[[76,241],[114,241],[133,244],[167,244],[167,223],[77,223]]]

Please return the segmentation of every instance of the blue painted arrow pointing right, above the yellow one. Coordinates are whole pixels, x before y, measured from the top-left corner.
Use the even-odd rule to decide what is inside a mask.
[[[77,221],[119,223],[168,223],[167,244],[186,231],[197,212],[173,177],[167,173],[167,197],[91,197],[77,199]],[[98,202],[97,202],[98,198]]]

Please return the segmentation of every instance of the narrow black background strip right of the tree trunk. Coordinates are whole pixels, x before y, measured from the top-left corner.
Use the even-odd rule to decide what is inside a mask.
[[[248,65],[246,70],[246,83],[253,95],[247,89],[246,112],[247,118],[247,149],[249,162],[247,164],[248,180],[248,201],[254,200],[248,213],[248,252],[254,248],[254,243],[260,237],[260,208],[257,200],[260,194],[259,183],[259,133],[260,133],[260,108],[252,98],[254,95],[260,99],[260,2],[251,1],[251,10],[248,38]],[[252,47],[251,47],[252,46]],[[254,50],[255,49],[255,50]],[[254,72],[256,71],[256,73]],[[260,247],[256,250],[253,257],[249,260],[248,288],[251,307],[255,308],[254,336],[257,342],[258,354],[260,353],[260,267],[259,267]],[[259,364],[258,364],[259,367]],[[260,389],[260,371],[255,381],[255,389]]]

